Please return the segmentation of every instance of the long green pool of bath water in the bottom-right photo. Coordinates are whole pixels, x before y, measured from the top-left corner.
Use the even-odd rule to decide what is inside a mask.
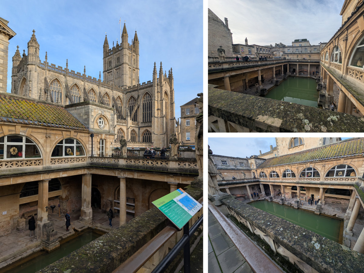
[[[339,242],[340,240],[341,221],[339,219],[317,215],[309,211],[294,209],[293,207],[266,200],[251,202],[249,205],[311,230],[332,241]]]

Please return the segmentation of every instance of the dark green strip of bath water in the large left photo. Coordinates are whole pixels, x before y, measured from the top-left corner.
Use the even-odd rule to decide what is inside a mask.
[[[60,258],[67,256],[71,252],[79,249],[81,246],[88,244],[89,242],[100,237],[101,234],[93,232],[92,230],[86,230],[79,236],[72,238],[60,245],[60,247],[52,252],[41,251],[37,253],[36,257],[32,257],[31,260],[5,271],[5,273],[34,273],[40,269],[45,268],[47,265],[58,261]],[[76,261],[75,261],[76,262]],[[0,270],[1,271],[1,270]]]

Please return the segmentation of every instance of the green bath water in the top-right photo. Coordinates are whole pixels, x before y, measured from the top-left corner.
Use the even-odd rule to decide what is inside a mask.
[[[311,78],[288,77],[263,97],[318,108],[317,83]]]

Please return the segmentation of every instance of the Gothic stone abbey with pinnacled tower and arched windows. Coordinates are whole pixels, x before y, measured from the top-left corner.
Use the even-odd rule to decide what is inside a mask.
[[[112,48],[105,36],[103,80],[101,71],[96,79],[86,75],[86,67],[82,74],[70,70],[68,60],[65,68],[49,64],[47,52],[42,62],[39,49],[33,30],[27,54],[24,50],[21,55],[18,47],[12,58],[12,94],[65,106],[86,127],[96,124],[96,131],[107,129],[107,147],[119,143],[122,136],[130,147],[167,146],[176,131],[172,68],[167,76],[160,63],[158,74],[154,63],[152,79],[139,83],[137,31],[129,44],[124,24],[121,43]]]

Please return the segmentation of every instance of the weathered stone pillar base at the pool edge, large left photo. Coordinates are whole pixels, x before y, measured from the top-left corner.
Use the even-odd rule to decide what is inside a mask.
[[[37,238],[47,252],[59,247],[57,231],[51,222],[37,222]]]

